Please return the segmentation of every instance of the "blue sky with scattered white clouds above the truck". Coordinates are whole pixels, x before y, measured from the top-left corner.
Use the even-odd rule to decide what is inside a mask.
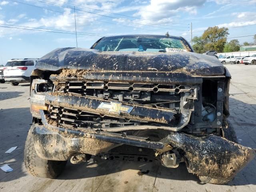
[[[253,36],[232,37],[256,34],[256,0],[0,0],[0,64],[76,47],[74,6],[82,48],[102,36],[167,31],[190,42],[191,22],[192,37],[212,26],[227,27],[228,41],[240,44]]]

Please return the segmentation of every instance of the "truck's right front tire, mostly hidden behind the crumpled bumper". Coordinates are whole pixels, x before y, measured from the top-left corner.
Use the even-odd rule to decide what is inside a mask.
[[[234,128],[232,127],[232,125],[230,125],[228,123],[226,118],[223,118],[223,119],[224,119],[223,125],[227,126],[227,128],[223,128],[224,138],[226,138],[227,140],[230,140],[234,143],[238,143],[238,140],[236,137],[236,132],[235,132]],[[229,180],[220,180],[220,179],[214,179],[214,178],[210,178],[207,176],[200,176],[200,175],[198,175],[198,178],[202,183],[210,183],[210,184],[217,184],[217,185],[227,184],[230,180],[233,179],[233,178],[231,178]]]

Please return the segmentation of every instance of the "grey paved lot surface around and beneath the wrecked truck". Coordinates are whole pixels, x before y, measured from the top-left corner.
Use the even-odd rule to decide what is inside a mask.
[[[256,148],[256,65],[231,65],[230,121],[238,141]],[[29,110],[29,84],[0,84],[0,166],[9,164],[12,172],[0,170],[0,192],[234,192],[256,191],[256,159],[227,185],[202,184],[182,164],[176,169],[158,164],[99,161],[73,165],[68,162],[56,179],[30,176],[24,167],[23,150],[32,116]],[[12,153],[4,153],[18,146]]]

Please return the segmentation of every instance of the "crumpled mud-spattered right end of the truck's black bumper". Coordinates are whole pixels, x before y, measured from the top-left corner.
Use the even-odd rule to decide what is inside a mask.
[[[221,180],[232,179],[256,152],[215,135],[194,137],[171,132],[166,140],[182,150],[188,172]]]

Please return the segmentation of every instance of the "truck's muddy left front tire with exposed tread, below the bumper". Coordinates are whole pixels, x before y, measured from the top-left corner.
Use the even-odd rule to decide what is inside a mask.
[[[53,161],[40,158],[34,148],[34,140],[32,138],[32,126],[28,132],[24,149],[24,162],[27,171],[33,176],[43,178],[57,177],[66,165],[66,161]]]

